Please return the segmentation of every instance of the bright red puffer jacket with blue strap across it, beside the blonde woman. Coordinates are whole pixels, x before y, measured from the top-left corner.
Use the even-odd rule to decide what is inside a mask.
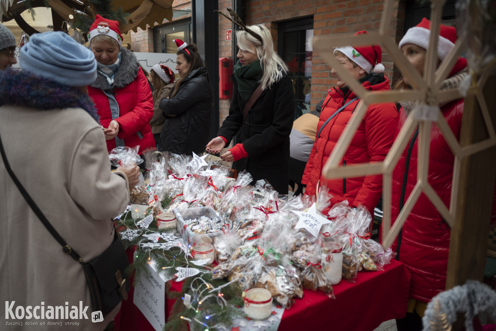
[[[377,79],[377,76],[372,76]],[[362,83],[366,89],[371,91],[389,91],[389,80],[376,84],[371,84],[369,79]],[[382,79],[380,79],[382,80]],[[317,134],[322,124],[334,114],[340,107],[356,97],[351,92],[346,97],[343,92],[333,87],[328,91],[329,96],[325,99],[325,107],[320,112],[320,119],[317,125]],[[341,133],[346,128],[351,116],[360,100],[349,104],[344,110],[330,120],[320,132],[313,144],[310,158],[303,174],[302,183],[307,184],[305,194],[315,195],[315,189],[319,182],[319,187],[325,185],[332,195],[331,203],[341,202],[347,199],[350,205],[358,206],[363,204],[373,215],[373,208],[376,206],[382,193],[382,176],[369,175],[358,178],[326,179],[321,174],[322,168],[327,162]],[[355,136],[346,150],[341,160],[342,166],[349,166],[357,163],[378,162],[384,160],[389,148],[394,141],[394,131],[396,127],[398,113],[393,103],[374,104],[369,107],[362,123],[358,127]]]

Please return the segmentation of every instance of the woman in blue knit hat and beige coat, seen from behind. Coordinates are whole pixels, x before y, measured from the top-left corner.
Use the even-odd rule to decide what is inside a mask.
[[[0,297],[8,303],[0,324],[20,322],[8,330],[23,330],[26,321],[38,323],[36,330],[53,330],[54,322],[61,330],[103,330],[120,305],[104,323],[90,321],[94,309],[82,265],[64,254],[7,169],[88,262],[113,242],[110,218],[125,209],[138,167],[109,171],[104,133],[86,93],[96,78],[90,50],[62,32],[46,32],[21,48],[19,62],[22,69],[0,71]],[[50,306],[62,307],[55,320]]]

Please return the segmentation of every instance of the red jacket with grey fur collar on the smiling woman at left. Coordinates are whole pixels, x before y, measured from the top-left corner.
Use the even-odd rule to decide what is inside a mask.
[[[112,121],[110,100],[115,98],[119,105],[119,117],[116,118],[119,122],[117,137],[124,139],[124,145],[127,147],[139,145],[138,153],[141,154],[144,149],[155,147],[149,124],[153,116],[152,93],[134,55],[125,48],[121,48],[120,54],[121,66],[115,74],[112,88],[107,79],[98,72],[97,80],[88,86],[88,94],[95,102],[100,124],[104,128],[108,128]],[[115,139],[107,140],[109,152],[115,147]]]

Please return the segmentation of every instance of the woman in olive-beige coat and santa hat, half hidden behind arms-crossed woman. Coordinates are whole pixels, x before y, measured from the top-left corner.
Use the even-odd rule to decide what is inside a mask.
[[[150,120],[150,127],[152,128],[155,143],[160,142],[160,133],[164,126],[165,117],[163,111],[160,109],[160,101],[169,98],[171,90],[174,87],[174,72],[171,68],[165,65],[152,66],[150,70],[150,78],[153,84],[153,117]]]

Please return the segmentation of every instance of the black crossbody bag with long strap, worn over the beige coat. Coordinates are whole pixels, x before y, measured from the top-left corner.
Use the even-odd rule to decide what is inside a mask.
[[[129,290],[129,279],[126,274],[129,260],[127,260],[123,243],[119,240],[117,232],[114,230],[114,241],[109,248],[91,261],[84,262],[79,254],[70,248],[62,239],[61,235],[48,221],[13,173],[7,161],[1,137],[0,153],[5,164],[5,169],[36,216],[38,216],[48,232],[62,246],[62,251],[82,265],[84,274],[86,275],[86,283],[90,289],[93,311],[101,311],[103,316],[106,316],[122,299],[127,299],[127,291]]]

